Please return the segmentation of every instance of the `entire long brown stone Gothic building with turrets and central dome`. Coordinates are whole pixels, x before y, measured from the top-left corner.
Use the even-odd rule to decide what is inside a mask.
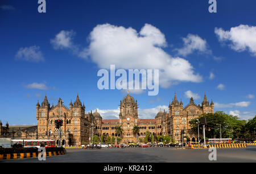
[[[139,127],[138,138],[144,138],[146,131],[152,135],[169,135],[176,142],[181,142],[181,130],[185,130],[185,135],[196,141],[197,134],[190,131],[189,121],[203,113],[214,113],[214,103],[204,100],[201,105],[196,105],[191,97],[187,106],[183,107],[182,101],[177,101],[176,94],[174,100],[169,105],[169,113],[160,110],[154,119],[139,119],[138,103],[128,93],[120,101],[119,119],[102,119],[97,109],[94,113],[90,111],[85,114],[85,106],[81,104],[79,96],[76,101],[68,107],[61,105],[61,99],[57,105],[50,106],[47,97],[41,105],[36,105],[36,118],[38,119],[38,139],[58,139],[55,129],[55,120],[63,119],[61,144],[81,145],[88,144],[93,135],[121,136],[122,143],[137,142],[137,136],[133,133],[133,127]],[[61,105],[61,112],[60,112]],[[122,135],[117,135],[115,130],[122,127]],[[46,135],[48,132],[48,135]]]

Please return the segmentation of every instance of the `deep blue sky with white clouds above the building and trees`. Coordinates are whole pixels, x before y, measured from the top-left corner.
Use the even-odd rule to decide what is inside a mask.
[[[158,96],[131,94],[138,100],[140,118],[167,109],[175,92],[184,105],[191,96],[201,103],[206,93],[215,111],[242,119],[256,115],[255,1],[217,1],[212,14],[207,0],[46,2],[47,13],[38,13],[37,1],[0,2],[4,123],[36,124],[35,105],[45,94],[51,104],[61,97],[68,106],[79,93],[86,112],[97,107],[103,118],[116,118],[126,93],[99,90],[97,72],[117,59],[117,67],[124,69],[126,61],[132,68],[158,63],[166,71],[173,68],[175,75],[159,77],[168,82],[160,84]],[[137,50],[129,47],[134,44],[130,38],[150,41],[138,43]],[[151,63],[145,63],[147,56],[154,57]],[[180,67],[164,62],[177,57]]]

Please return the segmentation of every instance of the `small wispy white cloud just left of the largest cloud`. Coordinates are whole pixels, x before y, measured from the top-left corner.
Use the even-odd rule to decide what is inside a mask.
[[[75,45],[73,45],[73,36],[75,36],[74,31],[64,31],[61,30],[54,39],[51,39],[51,44],[54,49],[75,49]]]

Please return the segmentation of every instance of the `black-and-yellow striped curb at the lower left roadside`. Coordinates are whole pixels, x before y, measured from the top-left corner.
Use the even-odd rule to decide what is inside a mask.
[[[5,159],[23,159],[23,158],[36,158],[40,152],[20,153],[20,154],[0,154],[0,160]],[[65,151],[46,152],[46,156],[64,155]]]

